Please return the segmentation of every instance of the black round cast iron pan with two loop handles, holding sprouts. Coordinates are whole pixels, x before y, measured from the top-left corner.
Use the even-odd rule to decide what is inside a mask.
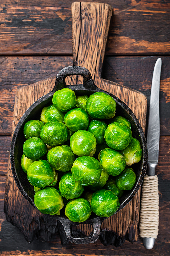
[[[72,85],[72,86],[66,85],[65,78],[70,75],[83,76],[84,78],[83,84]],[[56,77],[54,89],[48,94],[46,94],[45,96],[41,97],[34,104],[32,104],[31,107],[21,117],[20,121],[16,126],[16,129],[12,137],[12,142],[11,142],[10,157],[11,157],[11,169],[14,176],[14,180],[20,192],[22,193],[22,195],[30,202],[30,204],[32,204],[35,207],[34,200],[33,200],[35,192],[34,192],[33,186],[31,186],[31,184],[27,179],[27,175],[23,172],[21,168],[21,156],[23,154],[22,148],[23,148],[23,143],[26,140],[23,135],[23,127],[24,127],[24,124],[29,120],[33,120],[33,119],[40,120],[42,109],[45,106],[49,106],[50,104],[52,104],[52,96],[54,92],[57,90],[61,90],[64,87],[68,87],[72,89],[77,96],[81,96],[81,95],[89,96],[92,93],[99,92],[99,91],[105,92],[111,95],[117,104],[116,114],[123,116],[130,121],[132,126],[132,135],[134,138],[137,138],[140,141],[140,144],[143,150],[142,160],[139,163],[133,165],[133,169],[136,173],[136,183],[132,190],[125,191],[124,195],[120,198],[119,200],[120,207],[118,209],[118,211],[120,211],[134,197],[134,195],[140,188],[143,178],[145,176],[146,167],[147,167],[147,144],[146,144],[145,134],[143,133],[142,127],[139,121],[137,120],[136,116],[131,111],[131,109],[125,103],[123,103],[120,99],[118,99],[116,96],[99,89],[94,84],[90,72],[84,67],[70,66],[62,69]],[[72,226],[80,223],[70,221],[64,215],[63,209],[61,210],[60,216],[58,215],[49,215],[49,216],[60,221],[63,224],[67,238],[70,240],[70,242],[76,243],[76,244],[94,243],[99,238],[100,227],[102,222],[105,219],[107,219],[107,217],[98,217],[94,213],[92,213],[90,216],[90,219],[81,223],[81,224],[83,223],[91,224],[93,227],[92,234],[90,236],[82,235],[81,237],[75,237],[72,234]]]

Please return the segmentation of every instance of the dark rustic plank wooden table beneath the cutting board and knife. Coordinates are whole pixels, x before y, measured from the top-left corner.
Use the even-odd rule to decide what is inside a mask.
[[[0,252],[1,255],[170,255],[170,3],[165,0],[115,0],[102,77],[150,97],[155,61],[162,57],[160,84],[159,235],[154,249],[139,238],[119,247],[95,244],[62,247],[57,230],[42,232],[28,244],[3,212],[8,153],[16,90],[55,76],[72,65],[71,3],[73,0],[1,0],[0,9]],[[93,1],[92,1],[93,2]],[[46,225],[46,223],[44,223]],[[43,242],[42,239],[48,242]]]

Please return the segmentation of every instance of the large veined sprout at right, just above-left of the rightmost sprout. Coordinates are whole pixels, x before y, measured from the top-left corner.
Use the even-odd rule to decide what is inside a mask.
[[[122,150],[129,145],[132,139],[132,132],[128,126],[114,122],[107,127],[104,138],[109,147],[115,150]]]

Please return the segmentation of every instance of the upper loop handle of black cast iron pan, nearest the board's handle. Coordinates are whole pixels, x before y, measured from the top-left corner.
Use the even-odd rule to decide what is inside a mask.
[[[98,89],[98,87],[94,84],[94,81],[88,69],[86,69],[85,67],[79,67],[79,66],[69,66],[69,67],[64,67],[64,69],[62,69],[57,74],[57,77],[55,80],[55,86],[52,92],[56,92],[65,87],[69,88],[69,86],[66,85],[65,79],[67,76],[71,76],[71,75],[83,76],[83,84],[81,85],[80,89],[86,89],[86,90]],[[75,85],[75,86],[80,86],[80,85]]]

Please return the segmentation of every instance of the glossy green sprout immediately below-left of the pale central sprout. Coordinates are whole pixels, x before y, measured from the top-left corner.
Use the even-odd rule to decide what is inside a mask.
[[[69,146],[62,145],[50,149],[47,154],[47,159],[55,170],[70,171],[75,156]]]

